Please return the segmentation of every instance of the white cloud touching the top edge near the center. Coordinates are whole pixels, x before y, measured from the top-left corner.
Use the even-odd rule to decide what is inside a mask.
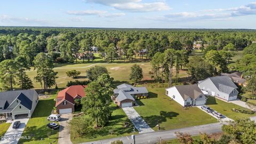
[[[129,12],[153,12],[170,10],[170,7],[165,2],[142,3],[141,0],[88,0],[87,2],[112,6],[117,10]]]

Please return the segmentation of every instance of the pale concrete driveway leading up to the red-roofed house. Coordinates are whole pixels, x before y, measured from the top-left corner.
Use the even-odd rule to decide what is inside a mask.
[[[60,132],[59,132],[59,140],[58,143],[62,144],[71,144],[70,140],[70,127],[69,122],[73,118],[72,114],[62,114],[61,115],[61,121],[59,121],[60,124]]]

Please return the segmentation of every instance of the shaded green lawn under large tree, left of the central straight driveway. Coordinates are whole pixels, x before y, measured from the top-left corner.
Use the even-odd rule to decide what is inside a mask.
[[[111,105],[113,113],[111,115],[110,121],[107,126],[94,131],[92,134],[81,135],[76,137],[75,132],[72,129],[71,125],[71,141],[73,143],[81,143],[87,141],[95,141],[102,139],[110,139],[115,137],[122,137],[126,135],[132,135],[133,133],[133,124],[130,122],[123,109],[117,108],[115,104]],[[131,125],[129,127],[124,127],[124,123],[129,122]],[[114,134],[110,134],[109,130],[114,129]],[[137,133],[137,132],[135,132]],[[74,138],[75,137],[75,138]]]

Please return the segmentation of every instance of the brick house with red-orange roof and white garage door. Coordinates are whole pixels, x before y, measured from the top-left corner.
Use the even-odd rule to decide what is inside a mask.
[[[55,105],[57,113],[73,113],[75,111],[75,100],[85,97],[85,87],[86,85],[71,85],[60,91]]]

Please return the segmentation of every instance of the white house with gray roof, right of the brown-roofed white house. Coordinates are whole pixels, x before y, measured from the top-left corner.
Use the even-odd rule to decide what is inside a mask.
[[[231,101],[236,100],[237,86],[228,76],[215,76],[198,82],[198,87],[206,94],[220,99]]]

